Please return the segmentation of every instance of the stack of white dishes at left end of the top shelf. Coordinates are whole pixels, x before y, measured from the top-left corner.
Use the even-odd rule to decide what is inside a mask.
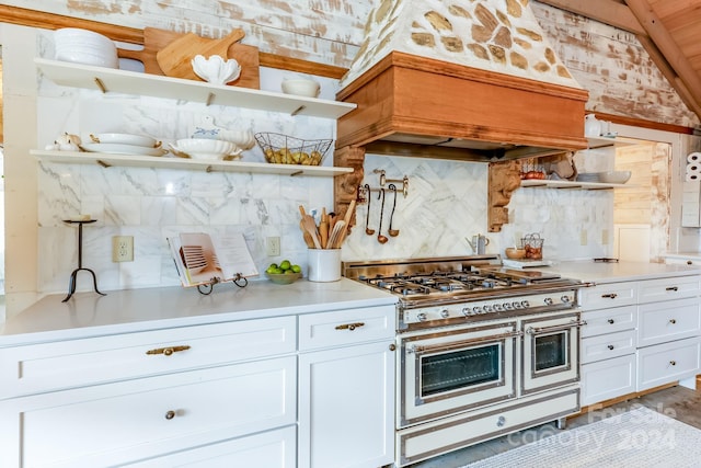
[[[119,68],[114,42],[94,31],[64,27],[54,32],[54,42],[56,60]]]

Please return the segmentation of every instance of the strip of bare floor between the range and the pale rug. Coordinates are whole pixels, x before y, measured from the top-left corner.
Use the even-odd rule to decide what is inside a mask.
[[[685,387],[671,387],[644,397],[613,404],[604,409],[604,412],[606,412],[606,415],[612,415],[617,410],[623,410],[641,404],[646,408],[664,412],[666,415],[701,429],[701,389],[697,389],[694,391]],[[600,416],[593,416],[589,413],[581,414],[567,420],[567,429],[577,427],[598,420],[600,420]],[[535,442],[539,440],[539,436],[554,431],[558,431],[554,423],[548,423],[521,431],[510,436],[503,436],[493,441],[483,442],[472,447],[441,455],[430,460],[420,461],[414,465],[410,465],[410,467],[458,468],[471,461],[480,460],[508,450],[521,445],[521,443]]]

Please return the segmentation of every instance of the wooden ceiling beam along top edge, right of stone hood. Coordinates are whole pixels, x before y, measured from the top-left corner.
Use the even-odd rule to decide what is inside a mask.
[[[570,11],[585,18],[628,31],[636,35],[647,34],[637,18],[625,3],[616,0],[538,0],[540,3]]]

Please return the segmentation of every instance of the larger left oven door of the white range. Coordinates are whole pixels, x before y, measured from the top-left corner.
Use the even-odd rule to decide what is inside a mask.
[[[398,427],[516,398],[515,321],[401,335]]]

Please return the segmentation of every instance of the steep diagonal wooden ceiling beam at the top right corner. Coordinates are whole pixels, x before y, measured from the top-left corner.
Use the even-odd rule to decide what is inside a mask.
[[[701,109],[701,98],[699,98],[701,96],[701,78],[699,78],[697,71],[681,53],[677,43],[671,38],[657,14],[652,10],[648,1],[625,0],[625,2],[643,28],[645,28],[647,33],[645,36],[648,36],[650,42],[659,50],[658,55],[664,57],[671,70],[677,75],[677,78],[670,81],[673,87],[675,87],[678,92],[680,92],[680,89],[682,90],[680,92],[682,99],[688,98],[692,100],[693,105],[690,105],[690,109],[701,117],[701,113],[699,112],[699,109]],[[639,41],[643,46],[646,44],[645,36],[639,36]],[[647,52],[652,56],[651,50]]]

